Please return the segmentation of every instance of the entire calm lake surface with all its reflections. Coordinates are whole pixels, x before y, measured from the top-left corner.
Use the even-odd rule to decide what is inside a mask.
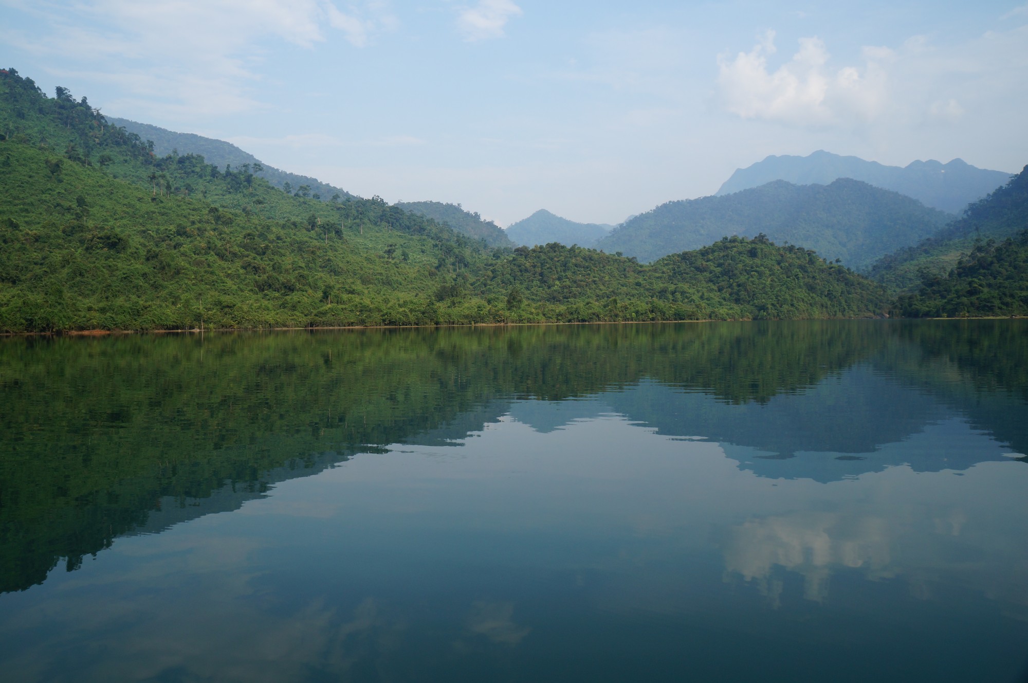
[[[1022,681],[1026,332],[0,339],[0,678]]]

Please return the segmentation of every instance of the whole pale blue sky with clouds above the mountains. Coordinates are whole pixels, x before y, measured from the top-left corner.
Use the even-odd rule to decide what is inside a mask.
[[[1028,5],[0,0],[0,66],[362,196],[618,223],[769,154],[1028,164]]]

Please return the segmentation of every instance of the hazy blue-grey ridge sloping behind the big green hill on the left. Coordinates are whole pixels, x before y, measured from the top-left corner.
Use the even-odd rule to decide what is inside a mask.
[[[205,138],[201,135],[193,133],[176,133],[175,131],[169,131],[157,125],[128,120],[127,118],[117,118],[115,116],[105,116],[105,118],[112,125],[117,125],[130,133],[135,133],[143,140],[152,140],[153,151],[157,156],[166,156],[174,150],[178,150],[179,154],[199,154],[204,157],[205,161],[213,164],[221,170],[224,170],[229,165],[238,169],[244,164],[249,164],[250,166],[260,164],[264,167],[264,171],[260,174],[261,177],[279,189],[284,189],[286,183],[289,183],[292,191],[296,192],[300,187],[306,185],[311,194],[318,194],[319,199],[326,202],[332,199],[333,194],[338,194],[340,197],[356,196],[356,194],[352,194],[340,187],[323,183],[317,178],[281,171],[273,166],[268,166],[250,152],[244,151],[224,140]]]

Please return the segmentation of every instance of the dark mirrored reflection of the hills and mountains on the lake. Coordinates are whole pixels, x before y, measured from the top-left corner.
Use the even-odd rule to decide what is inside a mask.
[[[769,477],[1023,455],[1024,331],[811,322],[5,339],[0,589],[376,445],[460,443],[511,410],[541,431],[624,415],[721,442]],[[994,438],[883,447],[952,420]]]

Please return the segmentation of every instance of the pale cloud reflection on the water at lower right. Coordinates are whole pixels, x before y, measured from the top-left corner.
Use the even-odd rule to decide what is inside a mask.
[[[1001,508],[1004,516],[989,500],[1016,496],[1008,474],[986,463],[954,482],[947,476],[918,480],[909,468],[895,468],[876,475],[883,479],[866,484],[858,499],[825,497],[819,509],[755,516],[732,527],[725,566],[776,607],[783,573],[802,577],[803,598],[822,603],[833,575],[852,570],[869,581],[896,579],[917,600],[960,586],[1028,622],[1028,548],[1014,541],[1028,536],[1028,524],[1023,514],[1009,514],[1021,511],[1017,505]]]

